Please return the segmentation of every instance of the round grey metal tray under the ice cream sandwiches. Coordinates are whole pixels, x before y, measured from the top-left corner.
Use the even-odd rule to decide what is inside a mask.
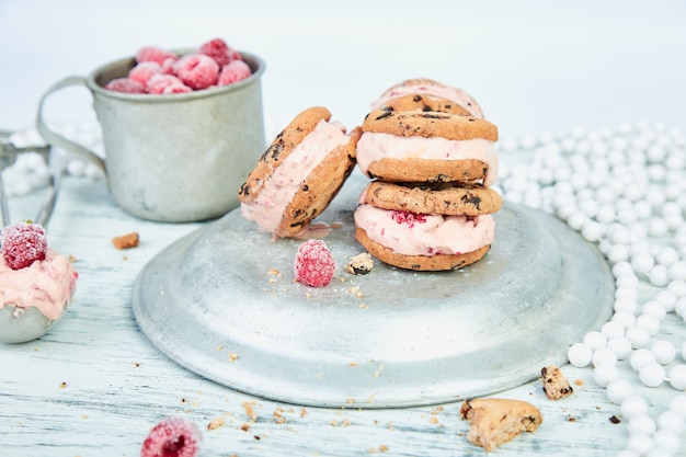
[[[403,271],[361,252],[351,179],[320,219],[339,273],[327,287],[293,281],[299,240],[272,240],[233,210],[176,241],[139,274],[142,332],[183,367],[230,388],[302,405],[389,408],[484,396],[567,362],[569,346],[611,315],[609,266],[545,213],[505,203],[479,262]],[[278,272],[278,274],[277,274]]]

